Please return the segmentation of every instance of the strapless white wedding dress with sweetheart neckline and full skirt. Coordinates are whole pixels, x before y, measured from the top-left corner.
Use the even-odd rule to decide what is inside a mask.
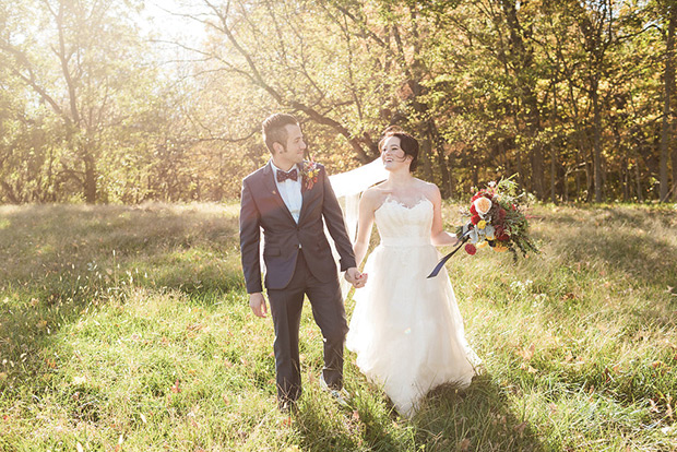
[[[479,358],[465,341],[447,271],[426,278],[439,260],[430,242],[432,203],[423,198],[407,206],[389,195],[375,217],[381,242],[365,265],[367,285],[355,290],[346,346],[397,412],[411,416],[429,390],[467,386]]]

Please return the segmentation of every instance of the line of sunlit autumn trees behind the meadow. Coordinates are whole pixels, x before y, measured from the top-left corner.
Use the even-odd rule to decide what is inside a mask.
[[[273,111],[331,171],[399,124],[444,197],[677,200],[675,0],[193,3],[199,40],[142,1],[0,5],[0,202],[234,199]]]

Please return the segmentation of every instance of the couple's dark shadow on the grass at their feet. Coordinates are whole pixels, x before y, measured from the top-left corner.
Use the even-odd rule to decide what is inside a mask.
[[[448,384],[431,391],[418,413],[401,417],[390,403],[361,391],[354,409],[310,397],[301,404],[296,429],[305,451],[544,451],[534,428],[515,413],[488,374],[459,391]],[[332,404],[326,406],[325,404]]]

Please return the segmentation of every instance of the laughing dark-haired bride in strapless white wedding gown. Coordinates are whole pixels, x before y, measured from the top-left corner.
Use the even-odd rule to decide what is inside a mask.
[[[429,390],[442,383],[467,386],[479,359],[465,341],[447,271],[426,278],[440,257],[435,246],[458,239],[443,229],[437,186],[412,175],[418,142],[389,131],[379,147],[389,178],[359,202],[358,264],[375,221],[381,242],[365,265],[368,284],[355,292],[346,346],[397,412],[412,416]]]

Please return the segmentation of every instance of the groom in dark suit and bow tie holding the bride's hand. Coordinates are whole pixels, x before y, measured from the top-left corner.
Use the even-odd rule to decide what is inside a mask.
[[[345,278],[361,287],[367,276],[356,267],[324,167],[304,160],[306,143],[296,118],[275,114],[263,121],[262,129],[272,158],[242,181],[240,251],[249,306],[256,316],[265,317],[259,253],[263,229],[265,287],[275,326],[277,401],[286,411],[301,394],[298,333],[305,295],[324,338],[321,382],[334,396],[343,385],[348,326],[324,224],[336,245]]]

